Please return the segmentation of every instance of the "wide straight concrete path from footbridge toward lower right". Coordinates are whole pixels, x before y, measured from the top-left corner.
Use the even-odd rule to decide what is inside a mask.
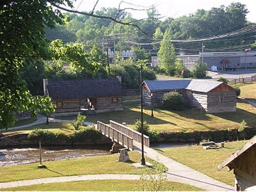
[[[134,150],[141,152],[141,144],[133,141]],[[232,186],[214,180],[207,175],[198,172],[190,167],[187,167],[177,161],[167,158],[165,155],[158,153],[152,148],[144,146],[145,156],[163,163],[167,168],[167,179],[169,181],[190,184],[201,189],[210,191],[230,191]],[[186,155],[186,154],[184,154]]]

